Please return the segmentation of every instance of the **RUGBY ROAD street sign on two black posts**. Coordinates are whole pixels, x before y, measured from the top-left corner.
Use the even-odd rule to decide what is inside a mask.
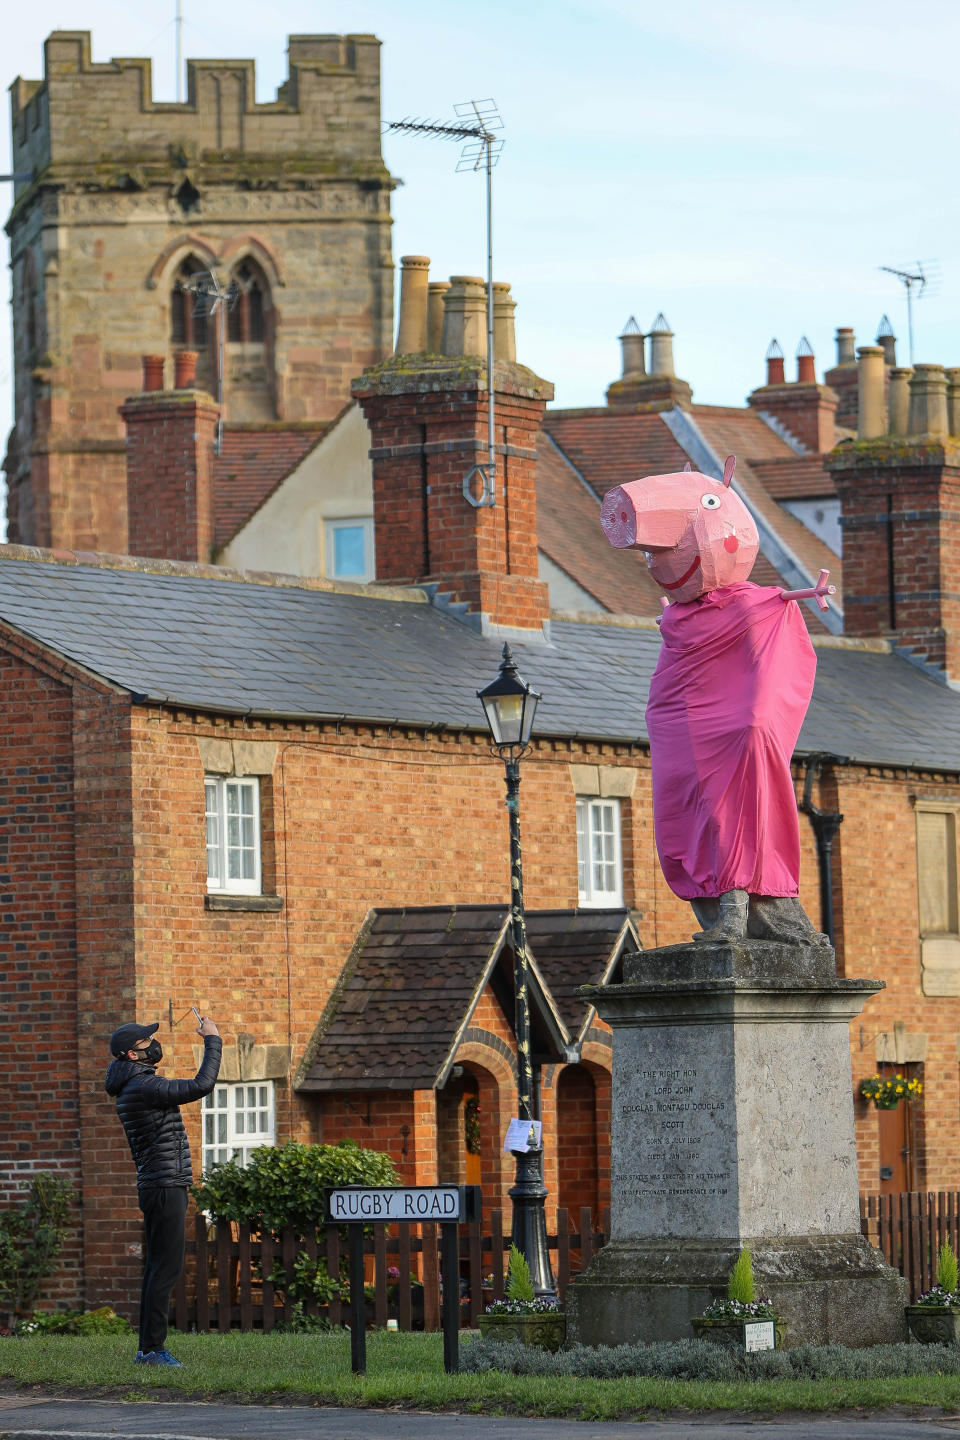
[[[481,1218],[479,1185],[338,1185],[327,1191],[327,1224],[350,1225],[350,1368],[367,1372],[363,1227],[435,1223],[440,1227],[443,1369],[459,1368],[462,1221]]]

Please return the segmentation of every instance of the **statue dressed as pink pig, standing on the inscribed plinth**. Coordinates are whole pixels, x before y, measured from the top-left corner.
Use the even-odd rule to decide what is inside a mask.
[[[645,550],[662,602],[664,645],[646,724],[653,827],[664,876],[702,926],[695,940],[747,936],[826,943],[797,899],[800,827],[790,776],[816,657],[794,602],[813,589],[747,580],[760,549],[753,517],[723,481],[692,471],[610,490],[610,544]]]

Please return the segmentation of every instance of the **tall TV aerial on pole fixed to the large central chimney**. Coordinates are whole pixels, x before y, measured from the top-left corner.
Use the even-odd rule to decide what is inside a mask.
[[[438,135],[440,140],[463,143],[456,173],[484,170],[486,173],[486,467],[474,465],[463,477],[463,495],[476,510],[497,504],[497,456],[494,448],[494,166],[501,157],[504,128],[497,102],[471,99],[455,105],[455,121],[406,118],[390,121],[384,132],[404,135]],[[479,498],[475,482],[479,481]]]

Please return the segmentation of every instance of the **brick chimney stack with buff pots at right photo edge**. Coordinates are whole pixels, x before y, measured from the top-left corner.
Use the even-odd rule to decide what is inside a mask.
[[[884,351],[864,346],[856,442],[826,458],[843,527],[843,629],[885,635],[960,678],[960,438],[947,433],[943,366],[894,369],[889,432],[877,433]],[[907,384],[910,409],[907,410]],[[864,386],[868,395],[864,395]],[[872,433],[869,433],[872,431]]]

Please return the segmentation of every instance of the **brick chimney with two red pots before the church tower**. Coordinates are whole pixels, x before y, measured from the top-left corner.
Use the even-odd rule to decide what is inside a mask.
[[[193,389],[197,357],[174,356],[176,390],[163,387],[163,356],[144,356],[144,389],[119,409],[127,423],[130,554],[209,562],[213,550],[213,439],[217,408]]]

